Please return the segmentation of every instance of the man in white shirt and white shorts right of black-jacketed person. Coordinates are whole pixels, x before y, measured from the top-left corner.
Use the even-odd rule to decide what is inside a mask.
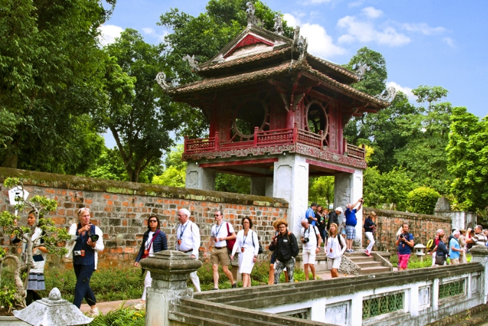
[[[302,220],[302,230],[300,231],[301,241],[303,243],[303,271],[305,272],[305,281],[308,281],[308,267],[312,271],[312,277],[315,277],[315,257],[320,251],[322,238],[319,229],[315,225],[310,225],[305,218]]]

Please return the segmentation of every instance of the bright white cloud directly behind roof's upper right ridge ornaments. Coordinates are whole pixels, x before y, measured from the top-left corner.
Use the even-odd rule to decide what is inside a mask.
[[[328,59],[338,54],[344,54],[345,50],[334,44],[332,37],[327,34],[326,29],[319,24],[302,24],[297,17],[285,13],[284,20],[288,26],[300,26],[300,35],[307,38],[308,50],[310,54],[324,59]]]

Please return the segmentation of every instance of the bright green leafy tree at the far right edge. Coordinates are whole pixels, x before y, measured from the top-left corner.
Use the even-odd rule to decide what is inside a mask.
[[[466,108],[453,108],[450,117],[448,169],[451,187],[462,209],[487,214],[488,116],[478,119]]]

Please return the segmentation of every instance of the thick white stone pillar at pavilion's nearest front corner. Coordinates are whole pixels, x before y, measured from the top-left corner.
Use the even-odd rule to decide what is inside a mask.
[[[289,202],[289,230],[298,235],[308,207],[308,163],[303,156],[284,153],[275,162],[273,197]]]

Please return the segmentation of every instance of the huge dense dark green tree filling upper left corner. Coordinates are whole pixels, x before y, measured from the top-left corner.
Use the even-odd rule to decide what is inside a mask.
[[[98,27],[110,12],[97,0],[2,1],[0,165],[79,170],[72,149],[90,138],[73,130],[102,101]]]

